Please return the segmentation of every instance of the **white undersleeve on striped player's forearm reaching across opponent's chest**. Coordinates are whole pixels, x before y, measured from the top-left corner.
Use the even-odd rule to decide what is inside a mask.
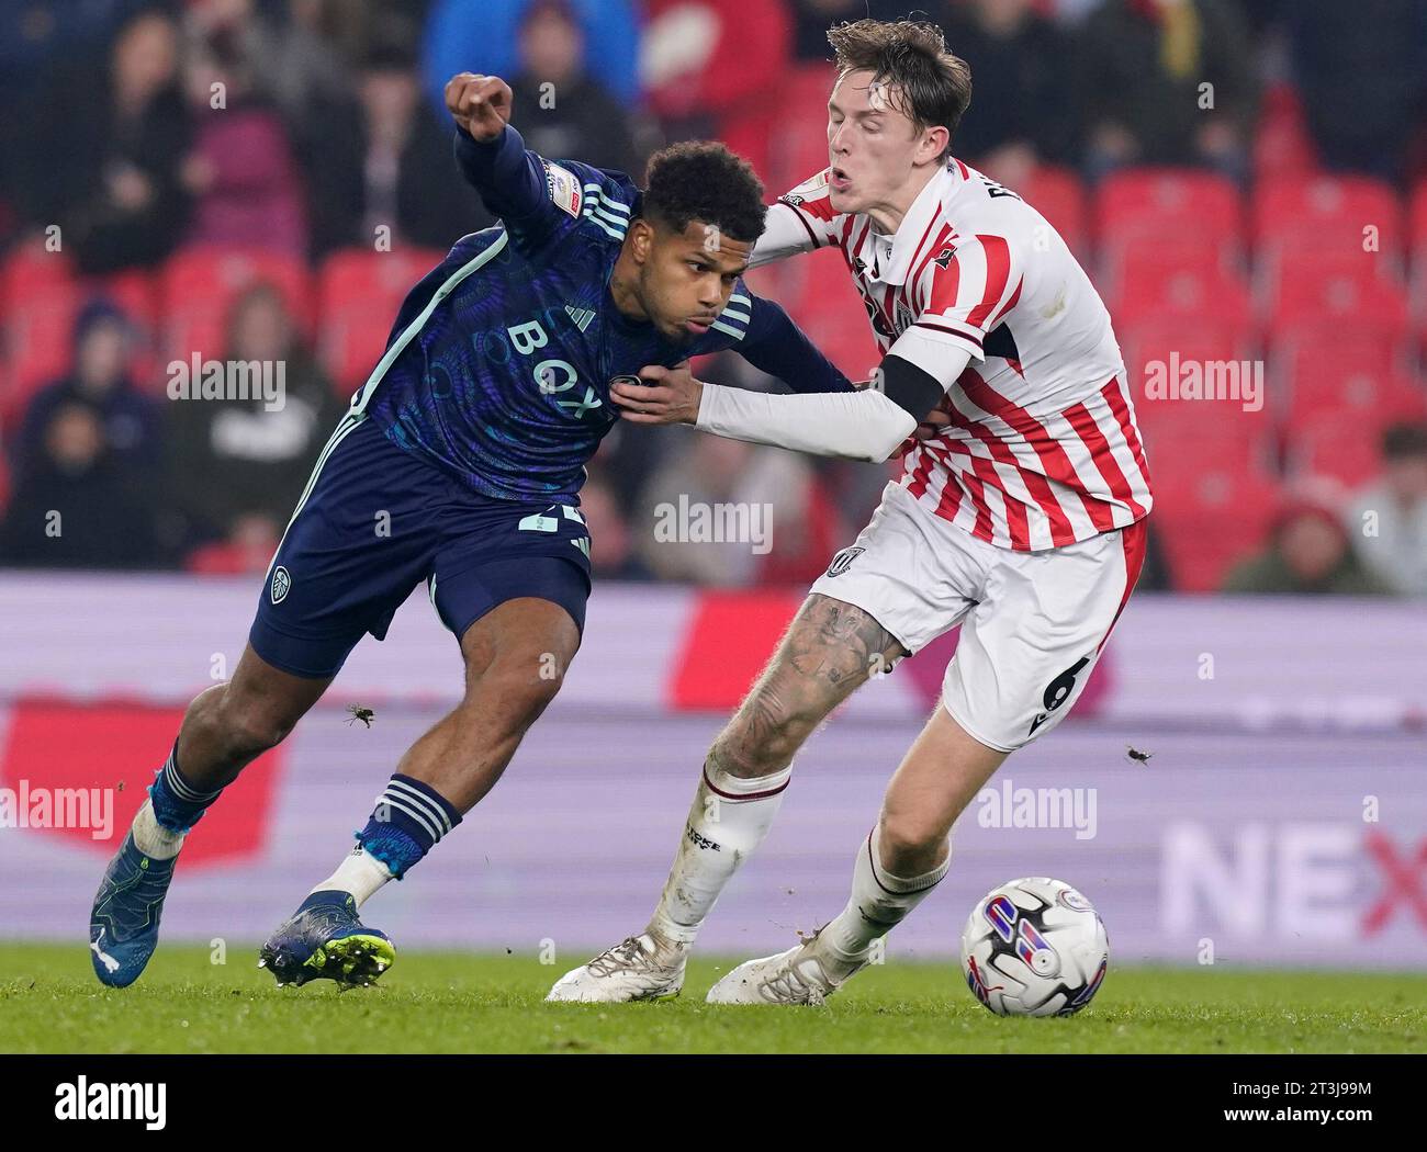
[[[879,462],[916,431],[916,421],[872,388],[775,396],[705,384],[695,426],[733,441]]]

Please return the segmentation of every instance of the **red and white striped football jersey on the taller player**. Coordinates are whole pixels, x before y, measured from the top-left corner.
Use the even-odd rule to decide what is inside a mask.
[[[1035,208],[959,160],[895,235],[835,212],[823,171],[768,211],[753,265],[836,245],[883,355],[936,376],[952,423],[900,483],[993,545],[1060,547],[1134,523],[1150,476],[1110,317]],[[952,372],[970,364],[955,379]]]

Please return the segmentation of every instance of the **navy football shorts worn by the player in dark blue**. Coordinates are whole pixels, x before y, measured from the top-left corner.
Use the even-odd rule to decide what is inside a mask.
[[[348,413],[283,535],[248,642],[283,672],[334,676],[362,636],[385,637],[422,580],[458,642],[521,596],[584,630],[588,552],[578,509],[482,496]]]

